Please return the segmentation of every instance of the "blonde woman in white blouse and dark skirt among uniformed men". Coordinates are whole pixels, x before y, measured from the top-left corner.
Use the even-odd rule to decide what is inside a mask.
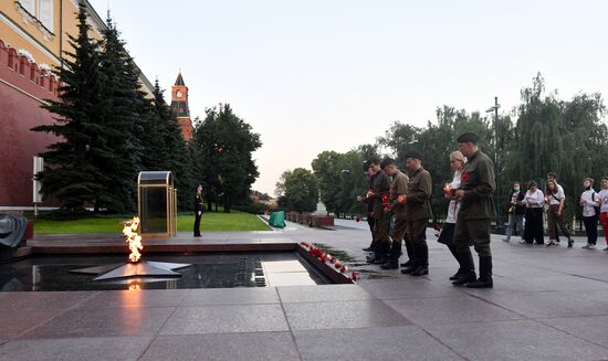
[[[462,168],[464,168],[465,161],[467,161],[467,158],[464,158],[464,156],[462,156],[462,153],[458,150],[450,155],[450,167],[454,171],[454,178],[452,179],[451,183],[445,184],[445,187],[443,188],[444,198],[447,200],[450,200],[450,204],[448,205],[448,217],[445,219],[443,229],[439,234],[439,240],[437,240],[439,243],[443,243],[444,245],[448,246],[448,248],[450,249],[454,258],[458,261],[458,264],[460,265],[460,267],[458,268],[458,272],[450,277],[451,280],[459,279],[463,273],[462,262],[459,258],[459,254],[457,253],[453,240],[454,240],[455,220],[458,217],[458,211],[460,210],[460,202],[455,198],[455,190],[460,188],[460,174],[462,173]],[[469,256],[471,256],[470,253],[469,253]],[[473,262],[472,258],[471,258],[471,262]]]

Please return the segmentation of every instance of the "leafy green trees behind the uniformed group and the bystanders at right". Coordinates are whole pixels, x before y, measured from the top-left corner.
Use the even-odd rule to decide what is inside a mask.
[[[599,179],[608,174],[608,127],[600,94],[580,93],[570,100],[560,99],[557,92],[545,94],[541,74],[531,87],[521,92],[522,103],[512,112],[483,116],[450,106],[438,107],[436,119],[424,127],[395,121],[374,146],[361,146],[355,153],[384,148],[405,169],[405,155],[420,151],[422,164],[433,181],[432,204],[439,215],[445,213],[442,187],[452,179],[449,155],[459,149],[458,135],[474,131],[479,147],[496,164],[497,206],[504,206],[515,180],[536,180],[541,187],[548,172],[556,172],[567,194],[568,215],[575,214],[581,182],[586,177]],[[368,159],[367,153],[363,159]],[[384,155],[387,156],[387,155]],[[353,171],[353,153],[323,151],[312,167],[319,181],[321,199],[329,212],[357,212],[353,195],[360,194],[366,182],[360,170]],[[344,171],[347,170],[347,171]],[[597,188],[597,183],[596,183]],[[350,208],[347,206],[350,204]]]

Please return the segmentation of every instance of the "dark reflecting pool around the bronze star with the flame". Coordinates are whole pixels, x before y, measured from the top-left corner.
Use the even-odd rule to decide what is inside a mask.
[[[82,267],[126,262],[125,255],[39,256],[0,265],[0,291],[178,289],[319,285],[331,283],[295,252],[144,255],[146,261],[185,263],[181,277],[139,277],[111,282],[74,274]]]

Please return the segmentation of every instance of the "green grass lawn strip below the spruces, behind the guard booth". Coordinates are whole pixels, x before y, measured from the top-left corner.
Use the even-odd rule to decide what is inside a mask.
[[[49,233],[120,233],[127,217],[91,217],[74,221],[38,219],[34,234]],[[177,232],[192,232],[195,215],[178,215]],[[211,212],[202,214],[202,232],[213,231],[270,231],[258,216],[249,213]]]

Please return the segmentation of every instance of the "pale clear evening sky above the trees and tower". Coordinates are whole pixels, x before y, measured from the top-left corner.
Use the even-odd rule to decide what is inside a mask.
[[[547,91],[608,94],[608,1],[90,0],[144,74],[192,118],[229,103],[261,135],[253,189],[324,150],[374,144],[449,105],[501,112],[541,72]],[[170,98],[167,98],[170,102]]]

